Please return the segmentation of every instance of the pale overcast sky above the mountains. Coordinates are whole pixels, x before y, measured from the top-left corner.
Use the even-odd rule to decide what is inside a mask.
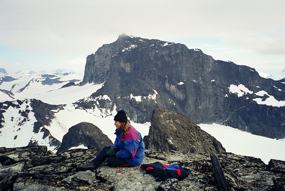
[[[0,68],[84,73],[122,33],[183,43],[215,60],[285,68],[284,0],[0,1]]]

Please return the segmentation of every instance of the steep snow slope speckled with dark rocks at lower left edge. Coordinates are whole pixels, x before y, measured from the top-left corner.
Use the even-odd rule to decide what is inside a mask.
[[[58,140],[43,126],[38,126],[31,100],[17,100],[1,104],[0,147],[46,145],[56,151]],[[8,105],[9,104],[9,105]],[[46,116],[48,119],[48,116]]]

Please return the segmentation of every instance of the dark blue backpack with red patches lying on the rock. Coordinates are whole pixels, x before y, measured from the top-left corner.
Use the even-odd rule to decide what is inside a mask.
[[[141,168],[155,177],[156,181],[166,180],[168,178],[176,178],[178,180],[183,180],[188,177],[190,171],[184,169],[181,165],[173,164],[166,165],[160,162],[143,164]]]

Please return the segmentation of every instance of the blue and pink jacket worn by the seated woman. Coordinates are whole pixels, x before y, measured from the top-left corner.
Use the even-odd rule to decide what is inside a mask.
[[[141,133],[131,126],[125,136],[124,142],[121,137],[122,129],[116,129],[115,143],[111,148],[117,148],[117,158],[125,159],[132,166],[139,166],[144,159],[144,142]]]

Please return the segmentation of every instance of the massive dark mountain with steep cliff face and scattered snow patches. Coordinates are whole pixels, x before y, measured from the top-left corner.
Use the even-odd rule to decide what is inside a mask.
[[[105,83],[88,101],[76,102],[78,108],[116,106],[131,120],[145,123],[153,109],[161,107],[196,124],[285,137],[285,78],[265,79],[254,68],[214,60],[180,43],[122,34],[87,57],[80,85],[92,82]],[[108,99],[100,99],[103,95]]]

